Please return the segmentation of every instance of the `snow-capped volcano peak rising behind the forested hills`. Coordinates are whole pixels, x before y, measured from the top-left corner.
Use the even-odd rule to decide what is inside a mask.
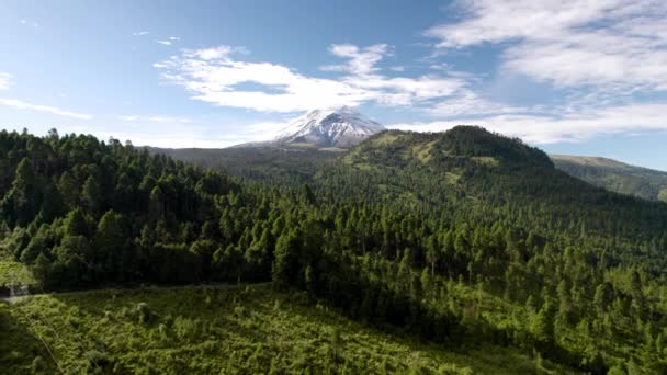
[[[384,126],[349,106],[314,110],[299,116],[281,132],[279,145],[305,143],[320,147],[352,147]]]

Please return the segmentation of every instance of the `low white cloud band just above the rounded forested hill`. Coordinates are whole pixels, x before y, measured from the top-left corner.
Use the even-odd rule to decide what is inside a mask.
[[[562,116],[549,114],[498,114],[460,117],[455,121],[400,123],[388,128],[442,132],[460,124],[474,124],[489,130],[517,136],[533,144],[581,141],[600,134],[631,130],[667,130],[667,103],[630,104],[588,109]]]

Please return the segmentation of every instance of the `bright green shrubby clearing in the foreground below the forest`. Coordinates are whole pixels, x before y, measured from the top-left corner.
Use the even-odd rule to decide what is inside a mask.
[[[0,309],[8,333],[0,368],[53,373],[43,338],[67,373],[544,373],[539,360],[511,349],[423,343],[304,298],[270,286],[241,286],[23,299]]]

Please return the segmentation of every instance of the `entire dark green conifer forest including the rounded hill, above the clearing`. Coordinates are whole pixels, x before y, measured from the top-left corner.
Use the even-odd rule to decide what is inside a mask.
[[[302,185],[56,133],[0,159],[4,246],[46,288],[271,281],[443,350],[667,371],[667,207],[517,139],[385,132]]]

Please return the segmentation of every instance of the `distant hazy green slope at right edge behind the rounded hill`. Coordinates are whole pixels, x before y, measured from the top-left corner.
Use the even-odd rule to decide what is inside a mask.
[[[645,200],[667,202],[667,172],[608,158],[569,155],[550,157],[559,170],[596,186]]]

